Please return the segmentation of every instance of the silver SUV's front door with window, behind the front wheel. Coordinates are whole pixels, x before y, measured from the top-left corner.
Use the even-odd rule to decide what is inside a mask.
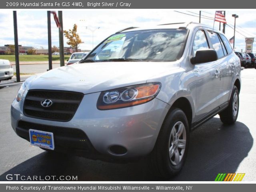
[[[213,48],[208,41],[206,30],[199,28],[194,32],[191,57],[197,50]],[[196,80],[196,122],[200,122],[218,109],[218,95],[220,84],[220,66],[218,61],[194,65]]]

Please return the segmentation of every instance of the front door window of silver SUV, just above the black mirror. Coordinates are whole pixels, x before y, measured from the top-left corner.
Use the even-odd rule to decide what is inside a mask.
[[[208,49],[209,45],[203,30],[199,30],[196,32],[196,36],[194,38],[192,56],[196,56],[196,52],[201,49]]]

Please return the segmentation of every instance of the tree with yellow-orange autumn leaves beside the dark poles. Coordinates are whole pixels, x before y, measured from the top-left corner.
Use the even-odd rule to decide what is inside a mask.
[[[69,29],[68,31],[64,30],[64,35],[68,39],[67,44],[72,46],[72,48],[75,48],[76,52],[78,49],[78,45],[81,43],[84,43],[84,42],[82,42],[82,40],[80,39],[80,36],[77,33],[77,25],[76,24],[74,24],[74,27],[72,30],[71,29]]]

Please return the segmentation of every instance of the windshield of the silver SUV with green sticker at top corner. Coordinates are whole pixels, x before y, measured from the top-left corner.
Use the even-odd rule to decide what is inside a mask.
[[[114,34],[83,62],[176,61],[183,54],[187,30],[142,30]]]

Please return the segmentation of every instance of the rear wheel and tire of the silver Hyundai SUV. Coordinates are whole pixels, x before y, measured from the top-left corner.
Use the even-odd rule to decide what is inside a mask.
[[[233,111],[234,110],[234,111]],[[239,111],[239,92],[236,86],[233,87],[228,107],[219,113],[220,120],[224,124],[234,124]]]

